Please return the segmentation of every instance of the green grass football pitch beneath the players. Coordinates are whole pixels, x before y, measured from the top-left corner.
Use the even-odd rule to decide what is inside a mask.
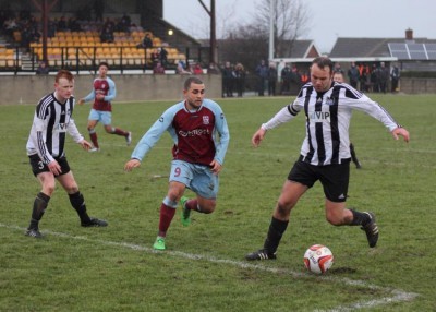
[[[173,101],[114,103],[113,125],[97,127],[101,151],[66,143],[66,156],[88,213],[107,228],[82,228],[57,185],[40,221],[44,239],[24,236],[40,187],[25,144],[34,106],[0,106],[0,311],[435,311],[436,96],[371,95],[411,133],[392,140],[384,125],[355,111],[351,141],[362,169],[351,166],[349,207],[374,212],[375,249],[358,227],[325,219],[316,183],[291,214],[276,261],[246,262],[263,245],[281,185],[299,156],[304,116],[269,131],[258,148],[251,136],[292,97],[218,99],[230,146],[214,214],[193,213],[189,227],[172,221],[165,252],[152,244],[167,193],[172,142],[168,133],[141,168],[123,166],[145,131]],[[35,99],[35,103],[37,99]],[[89,105],[74,119],[86,131]],[[193,194],[187,191],[189,196]],[[308,274],[305,250],[335,255],[324,276]]]

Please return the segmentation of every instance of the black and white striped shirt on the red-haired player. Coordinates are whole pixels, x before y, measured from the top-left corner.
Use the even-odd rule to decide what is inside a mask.
[[[49,164],[53,157],[64,156],[66,132],[76,143],[84,139],[72,118],[74,105],[74,97],[61,104],[53,93],[39,100],[27,140],[27,155],[38,154],[44,164]]]

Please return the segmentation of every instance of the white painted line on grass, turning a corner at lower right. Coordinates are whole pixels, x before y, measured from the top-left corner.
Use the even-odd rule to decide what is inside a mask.
[[[0,227],[7,228],[7,229],[15,229],[15,230],[20,230],[23,232],[26,230],[25,228],[21,228],[19,226],[9,226],[9,225],[2,224],[2,223],[0,223]],[[60,238],[83,240],[83,241],[93,242],[93,243],[97,242],[97,243],[100,243],[104,245],[128,248],[131,250],[138,250],[138,251],[144,251],[147,253],[167,253],[172,256],[183,257],[183,259],[187,259],[187,260],[204,260],[204,261],[208,261],[211,263],[229,264],[229,265],[241,267],[241,268],[251,268],[251,269],[258,269],[258,271],[270,272],[270,273],[289,274],[295,278],[314,277],[312,275],[298,273],[298,272],[293,272],[293,271],[286,269],[286,268],[268,267],[268,266],[264,266],[261,264],[251,264],[251,263],[241,262],[241,261],[218,259],[218,257],[209,256],[209,255],[193,254],[193,253],[186,253],[186,252],[182,252],[182,251],[165,251],[165,252],[162,252],[162,251],[156,251],[152,248],[140,245],[140,244],[133,244],[133,243],[126,243],[126,242],[114,242],[114,241],[107,241],[107,240],[100,240],[100,239],[90,239],[85,236],[72,236],[69,233],[56,232],[56,231],[50,231],[50,230],[43,230],[41,232],[49,233],[51,236],[60,237]],[[29,238],[29,239],[33,239],[33,238]],[[370,300],[370,301],[360,301],[360,302],[355,302],[355,303],[352,303],[349,305],[339,305],[339,307],[328,310],[328,311],[341,311],[342,312],[342,311],[354,311],[354,310],[360,310],[360,309],[375,308],[378,305],[389,304],[389,303],[395,303],[395,302],[412,301],[414,298],[416,298],[419,296],[417,293],[405,292],[401,289],[392,289],[392,288],[387,288],[387,287],[375,286],[375,285],[368,284],[363,280],[353,280],[350,278],[338,278],[338,277],[334,277],[334,276],[316,276],[316,278],[328,280],[331,283],[343,284],[343,285],[348,285],[348,286],[352,286],[352,287],[364,287],[367,289],[379,290],[379,291],[390,293],[389,297],[384,297],[384,298],[374,299],[374,300]],[[316,310],[316,311],[324,311],[324,310]]]

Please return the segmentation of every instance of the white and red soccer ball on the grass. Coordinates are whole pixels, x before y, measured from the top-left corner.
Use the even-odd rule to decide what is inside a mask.
[[[304,253],[304,265],[315,274],[324,274],[334,265],[334,254],[322,244],[310,247]]]

